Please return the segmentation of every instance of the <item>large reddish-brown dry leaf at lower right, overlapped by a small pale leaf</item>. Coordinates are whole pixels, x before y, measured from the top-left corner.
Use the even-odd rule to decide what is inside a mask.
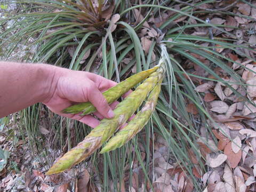
[[[240,149],[237,154],[232,151],[231,141],[227,144],[224,149],[224,154],[227,155],[227,162],[231,168],[235,168],[242,158],[242,150]]]

